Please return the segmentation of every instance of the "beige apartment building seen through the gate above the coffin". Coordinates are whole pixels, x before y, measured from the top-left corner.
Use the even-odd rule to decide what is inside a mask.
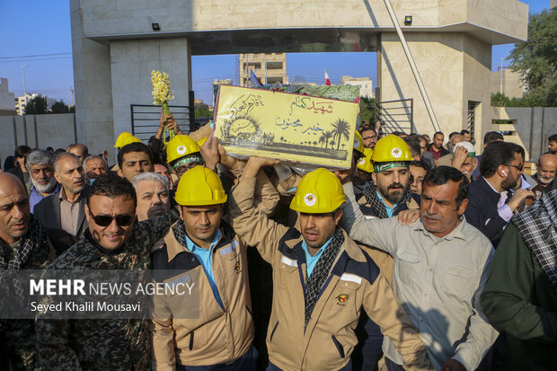
[[[261,84],[288,84],[286,53],[240,54],[240,86],[251,86],[250,71]]]

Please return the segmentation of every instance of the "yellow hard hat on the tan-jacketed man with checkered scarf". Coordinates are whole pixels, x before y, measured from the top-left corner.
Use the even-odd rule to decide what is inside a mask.
[[[331,213],[346,202],[339,179],[323,167],[305,174],[290,208],[301,213]]]

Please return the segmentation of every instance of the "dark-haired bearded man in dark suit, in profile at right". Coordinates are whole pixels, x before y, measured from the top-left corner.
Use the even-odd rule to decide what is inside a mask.
[[[510,142],[492,142],[485,147],[480,163],[482,177],[470,185],[466,220],[490,239],[495,248],[516,208],[526,198],[535,199],[532,190],[517,187],[524,168],[524,148]]]

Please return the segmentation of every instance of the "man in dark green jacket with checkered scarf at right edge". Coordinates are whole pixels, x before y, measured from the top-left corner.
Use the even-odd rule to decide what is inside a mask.
[[[557,365],[557,190],[516,216],[501,238],[482,293],[490,322],[508,334],[509,370]]]

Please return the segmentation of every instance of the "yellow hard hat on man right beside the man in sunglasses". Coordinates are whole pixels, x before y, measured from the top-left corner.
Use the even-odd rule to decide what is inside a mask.
[[[218,175],[198,165],[181,176],[174,199],[185,206],[217,205],[226,202],[226,194]]]

